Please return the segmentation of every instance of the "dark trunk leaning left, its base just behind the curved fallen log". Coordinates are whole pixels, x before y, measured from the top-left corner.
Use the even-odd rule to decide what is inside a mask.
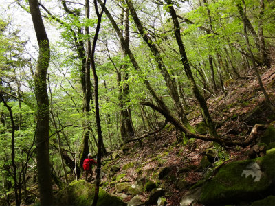
[[[181,40],[179,21],[177,20],[177,14],[176,14],[176,12],[173,8],[173,5],[172,5],[173,3],[170,0],[166,0],[166,3],[169,5],[169,12],[173,19],[174,28],[175,28],[175,31],[174,31],[175,37],[177,39],[177,45],[179,46],[179,53],[181,55],[181,62],[184,65],[184,71],[186,73],[186,76],[188,77],[188,80],[190,81],[192,91],[193,91],[195,97],[197,98],[197,100],[199,101],[199,104],[202,109],[203,117],[205,118],[206,125],[209,128],[210,135],[213,135],[214,137],[216,137],[217,131],[216,131],[216,129],[214,127],[214,123],[212,122],[212,119],[210,117],[210,114],[208,111],[208,106],[206,104],[206,100],[203,98],[203,96],[199,92],[199,89],[197,88],[195,79],[192,75],[192,71],[190,69],[190,65],[189,65],[188,58],[186,56],[186,52],[185,52],[185,48],[184,48],[184,43]]]

